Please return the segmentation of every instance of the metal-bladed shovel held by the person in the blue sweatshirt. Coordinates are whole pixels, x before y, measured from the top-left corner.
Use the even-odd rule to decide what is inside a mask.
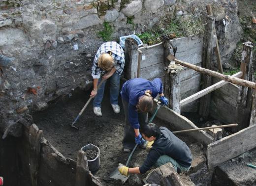
[[[161,103],[161,102],[158,101],[157,109],[156,109],[155,113],[153,114],[153,116],[150,118],[149,123],[152,122],[152,120],[155,118],[155,116],[156,116],[158,110],[160,109],[160,107],[163,106],[163,105],[160,105],[160,103]],[[126,166],[128,166],[128,164],[129,164],[129,162],[130,162],[130,159],[131,159],[133,153],[135,152],[137,146],[138,146],[138,144],[136,143],[135,147],[133,148],[133,150],[131,151],[131,153],[130,153],[130,155],[129,155],[129,158],[128,158],[127,162],[126,162]],[[129,178],[129,176],[122,175],[122,174],[119,172],[118,167],[117,167],[117,168],[114,170],[114,172],[112,172],[112,173],[110,174],[110,178],[115,179],[115,180],[121,180],[121,182],[122,182],[123,184],[125,184],[125,182],[126,182],[126,181],[128,180],[128,178]]]

